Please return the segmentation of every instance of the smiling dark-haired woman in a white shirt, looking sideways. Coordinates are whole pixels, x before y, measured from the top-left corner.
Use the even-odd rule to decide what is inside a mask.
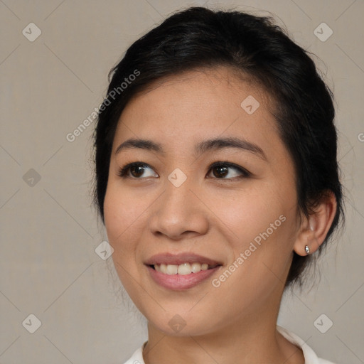
[[[328,363],[277,326],[343,216],[332,94],[272,19],[195,7],[130,46],[95,202],[148,321],[127,363]]]

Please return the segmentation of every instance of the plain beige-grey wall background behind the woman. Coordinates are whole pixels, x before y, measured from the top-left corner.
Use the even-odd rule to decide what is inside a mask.
[[[217,3],[0,1],[0,363],[124,363],[145,341],[111,258],[95,253],[107,239],[90,199],[95,123],[72,142],[66,136],[100,105],[107,73],[132,41],[192,4]],[[279,323],[324,358],[364,363],[364,1],[218,4],[269,11],[319,57],[333,87],[346,230],[319,261],[316,287],[284,298]],[[22,33],[36,35],[31,22],[41,29],[33,42]],[[326,41],[314,34],[322,22],[333,31]],[[34,333],[30,314],[41,321]],[[326,333],[314,325],[321,314],[321,327],[333,322]]]

